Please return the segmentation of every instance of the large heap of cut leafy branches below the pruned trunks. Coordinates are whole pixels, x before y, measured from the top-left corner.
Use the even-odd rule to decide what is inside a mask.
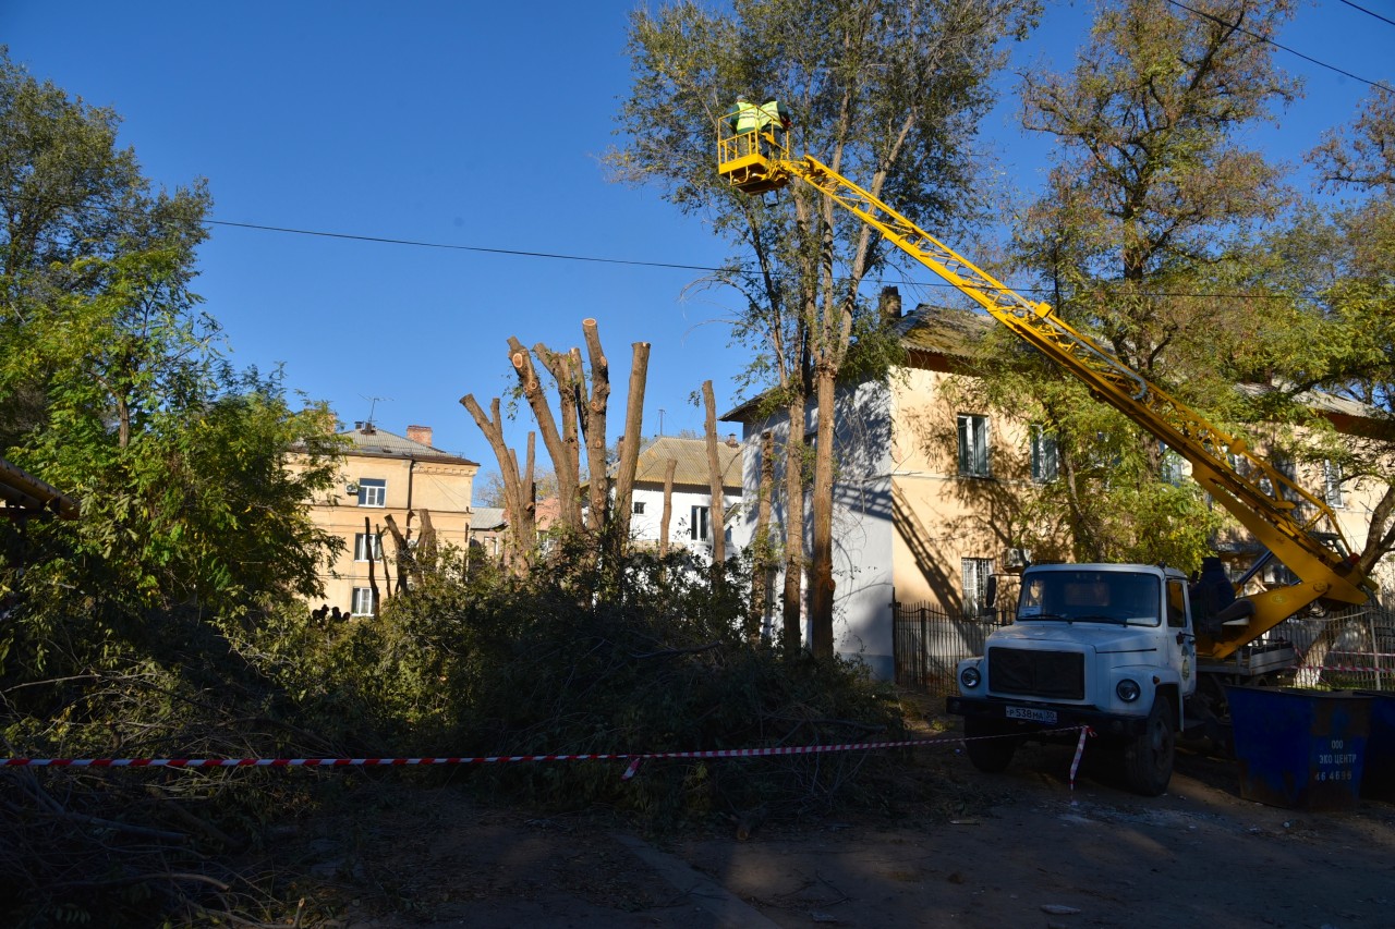
[[[579,544],[579,543],[578,543]],[[751,644],[745,566],[727,583],[677,554],[596,572],[564,551],[519,579],[445,566],[378,619],[356,619],[312,664],[289,665],[306,720],[356,750],[392,755],[628,753],[848,741],[900,725],[855,667]],[[449,561],[449,559],[446,559]],[[850,763],[774,759],[511,764],[481,784],[550,806],[604,802],[671,824],[748,802],[831,802]]]

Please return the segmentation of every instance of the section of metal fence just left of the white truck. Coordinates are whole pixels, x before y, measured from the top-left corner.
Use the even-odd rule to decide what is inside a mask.
[[[894,657],[898,686],[930,695],[958,693],[954,667],[983,654],[989,633],[1011,622],[1007,612],[947,612],[933,603],[897,604]]]

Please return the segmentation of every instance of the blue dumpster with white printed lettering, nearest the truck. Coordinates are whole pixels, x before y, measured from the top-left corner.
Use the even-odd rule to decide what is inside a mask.
[[[1362,787],[1371,699],[1350,692],[1226,686],[1240,796],[1350,809]]]

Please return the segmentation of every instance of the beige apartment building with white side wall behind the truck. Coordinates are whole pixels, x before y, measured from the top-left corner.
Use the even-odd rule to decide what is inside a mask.
[[[979,312],[921,307],[893,325],[907,363],[884,382],[838,388],[833,527],[837,649],[887,679],[894,603],[975,612],[989,576],[1011,575],[1028,561],[1066,561],[1071,554],[1067,527],[1046,522],[1049,511],[1034,506],[1057,477],[1049,435],[1025,418],[989,410],[965,389],[972,388],[975,346],[996,324]],[[1313,398],[1313,405],[1339,432],[1360,431],[1364,411],[1356,405],[1322,396]],[[773,432],[777,448],[788,435],[780,413],[759,417],[757,409],[752,402],[723,417],[744,425],[746,499],[756,499],[762,434]],[[810,441],[817,410],[806,416],[804,434]],[[1331,467],[1293,470],[1303,487],[1327,499],[1346,538],[1359,547],[1381,488],[1374,481],[1343,480]],[[1179,480],[1184,473],[1179,459]],[[776,483],[783,485],[778,456]],[[746,508],[738,544],[748,543],[753,522]],[[781,508],[776,522],[783,522]],[[783,527],[777,533],[783,537]],[[1233,575],[1260,551],[1239,526],[1223,533],[1216,547]],[[1375,572],[1382,596],[1395,589],[1389,561]],[[1271,562],[1256,583],[1289,579],[1282,565]],[[778,622],[777,610],[771,604],[767,622]]]

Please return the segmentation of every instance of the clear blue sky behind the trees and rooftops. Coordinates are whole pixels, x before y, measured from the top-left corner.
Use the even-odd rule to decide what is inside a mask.
[[[0,0],[0,42],[33,77],[120,113],[121,144],[156,186],[206,177],[213,219],[442,246],[219,225],[195,290],[236,363],[285,364],[287,386],[329,400],[342,420],[371,410],[396,432],[430,425],[438,448],[495,470],[458,400],[474,393],[488,407],[505,395],[511,335],[566,349],[582,345],[582,319],[598,321],[612,438],[632,342],[653,345],[646,434],[660,418],[667,434],[700,428],[689,398],[704,379],[718,407],[735,400],[746,350],[728,346],[721,322],[734,294],[691,292],[699,272],[459,248],[721,261],[700,220],[656,191],[610,183],[600,165],[619,141],[636,6]],[[1395,20],[1392,0],[1360,6]],[[1067,68],[1089,10],[1050,3],[1014,66]],[[1395,84],[1395,25],[1339,0],[1304,7],[1281,42]],[[1307,96],[1253,144],[1297,162],[1368,88],[1283,52],[1276,61],[1306,78]],[[1049,144],[1021,137],[1011,81],[1003,86],[985,133],[1010,183],[1031,188]],[[910,305],[935,296],[901,290]],[[529,427],[520,411],[509,437],[520,451]]]

